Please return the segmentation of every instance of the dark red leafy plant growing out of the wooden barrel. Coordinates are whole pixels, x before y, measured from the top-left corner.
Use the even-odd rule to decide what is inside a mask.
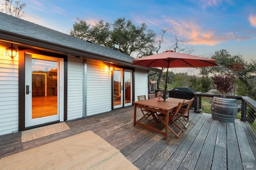
[[[233,84],[235,82],[234,75],[230,72],[223,74],[214,74],[212,76],[214,82],[214,87],[220,91],[221,97],[226,98],[226,95],[233,89]]]

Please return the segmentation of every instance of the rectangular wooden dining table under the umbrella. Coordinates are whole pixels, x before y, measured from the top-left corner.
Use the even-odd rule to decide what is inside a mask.
[[[178,98],[167,98],[166,101],[164,101],[163,99],[161,99],[160,102],[158,102],[158,98],[152,98],[152,99],[148,99],[148,100],[140,100],[137,102],[134,102],[134,121],[133,121],[133,125],[140,125],[142,127],[145,127],[151,131],[160,133],[161,135],[164,135],[164,139],[167,139],[168,137],[168,122],[169,122],[169,113],[171,111],[174,111],[176,109],[176,107],[178,106],[179,102],[183,102],[184,100],[184,104],[183,106],[186,106],[189,103],[189,100],[186,99],[178,99]],[[163,113],[166,115],[166,124],[165,124],[165,131],[161,131],[160,129],[157,129],[155,126],[158,125],[159,122],[153,123],[152,125],[147,125],[144,123],[141,123],[139,121],[136,120],[137,117],[137,107],[142,108],[142,109],[147,109],[150,110],[152,112],[157,112],[157,113]]]

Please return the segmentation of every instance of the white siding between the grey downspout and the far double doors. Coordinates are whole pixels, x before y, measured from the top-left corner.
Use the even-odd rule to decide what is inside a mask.
[[[95,115],[111,110],[111,73],[107,64],[87,61],[87,108],[86,115]]]

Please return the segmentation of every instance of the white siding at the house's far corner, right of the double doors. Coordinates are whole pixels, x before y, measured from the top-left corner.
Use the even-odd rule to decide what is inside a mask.
[[[137,96],[146,95],[148,99],[148,72],[135,70],[135,101]]]

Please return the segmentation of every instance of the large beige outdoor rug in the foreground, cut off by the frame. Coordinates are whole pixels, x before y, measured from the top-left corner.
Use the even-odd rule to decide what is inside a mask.
[[[0,159],[1,170],[138,170],[112,145],[91,131]]]

